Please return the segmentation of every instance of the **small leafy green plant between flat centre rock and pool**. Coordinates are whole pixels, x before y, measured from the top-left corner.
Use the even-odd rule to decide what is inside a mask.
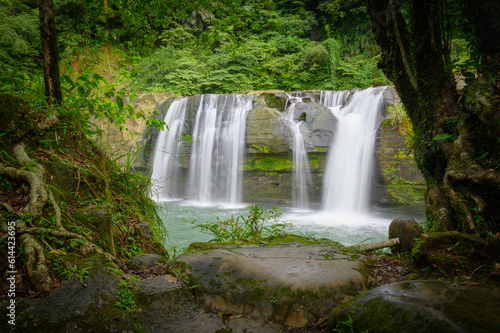
[[[248,216],[239,215],[221,221],[217,217],[215,222],[195,224],[193,228],[201,229],[203,232],[212,234],[215,238],[210,242],[231,242],[231,241],[261,241],[263,238],[273,239],[285,235],[287,223],[278,220],[281,213],[279,207],[266,210],[256,205],[246,208]]]

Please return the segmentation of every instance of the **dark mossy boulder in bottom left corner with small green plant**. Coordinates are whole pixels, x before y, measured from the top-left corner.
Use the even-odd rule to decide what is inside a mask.
[[[48,296],[16,301],[15,325],[0,307],[0,332],[262,332],[272,325],[208,313],[170,275],[123,280],[94,263],[90,277],[64,281]]]

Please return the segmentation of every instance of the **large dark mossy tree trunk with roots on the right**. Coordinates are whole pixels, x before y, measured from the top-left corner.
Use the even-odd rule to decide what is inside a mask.
[[[498,59],[498,48],[485,57],[490,64],[482,81],[459,93],[443,37],[442,1],[411,1],[408,15],[397,0],[366,4],[382,49],[379,66],[394,83],[415,129],[414,150],[427,182],[431,226],[499,231],[498,62],[492,60]],[[479,106],[478,94],[485,99]]]

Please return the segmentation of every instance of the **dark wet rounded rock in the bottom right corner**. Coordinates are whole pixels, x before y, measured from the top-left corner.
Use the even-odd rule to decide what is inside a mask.
[[[411,281],[372,289],[335,309],[328,325],[364,332],[498,332],[500,286]]]

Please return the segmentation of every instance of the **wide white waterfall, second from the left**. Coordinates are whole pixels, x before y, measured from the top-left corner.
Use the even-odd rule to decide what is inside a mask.
[[[196,113],[189,166],[189,199],[201,203],[241,200],[248,95],[203,95]]]

